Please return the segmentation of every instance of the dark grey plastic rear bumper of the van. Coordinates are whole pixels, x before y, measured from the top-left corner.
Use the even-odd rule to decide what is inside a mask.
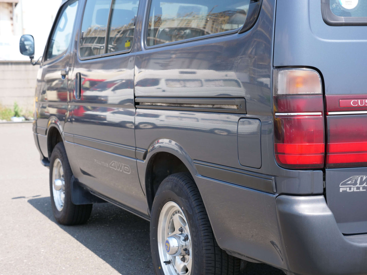
[[[289,271],[367,273],[367,234],[344,236],[323,196],[281,195],[276,198],[276,208]]]

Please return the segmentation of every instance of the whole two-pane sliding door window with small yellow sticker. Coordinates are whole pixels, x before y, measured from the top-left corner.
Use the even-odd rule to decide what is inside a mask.
[[[81,23],[80,58],[130,51],[138,6],[137,0],[87,0]]]

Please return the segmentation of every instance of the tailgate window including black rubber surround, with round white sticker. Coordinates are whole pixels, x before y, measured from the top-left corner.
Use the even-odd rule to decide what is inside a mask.
[[[366,0],[321,0],[321,12],[331,26],[367,25]]]

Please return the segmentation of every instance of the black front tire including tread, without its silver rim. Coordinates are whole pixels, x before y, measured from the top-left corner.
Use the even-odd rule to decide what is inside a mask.
[[[65,201],[64,205],[59,211],[56,208],[54,195],[52,192],[52,170],[54,167],[55,159],[60,159],[65,180]],[[85,223],[92,212],[93,204],[75,205],[71,200],[71,179],[73,172],[70,168],[68,156],[66,155],[65,147],[62,142],[59,142],[52,150],[50,158],[50,194],[51,194],[51,206],[52,212],[54,212],[55,219],[58,223],[64,225],[75,225]]]

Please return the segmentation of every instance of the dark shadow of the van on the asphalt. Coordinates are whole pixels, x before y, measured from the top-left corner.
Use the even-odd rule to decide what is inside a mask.
[[[52,213],[50,197],[29,199],[28,202],[58,224]],[[93,205],[86,224],[58,226],[120,274],[154,274],[148,221],[110,203],[97,203]],[[255,263],[248,263],[242,275],[260,274],[284,275],[280,269]]]

